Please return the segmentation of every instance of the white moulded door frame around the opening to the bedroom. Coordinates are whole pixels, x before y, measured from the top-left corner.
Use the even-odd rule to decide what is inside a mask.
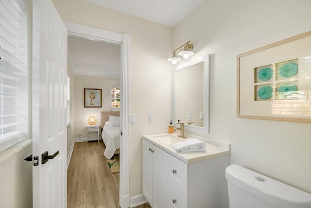
[[[130,207],[129,194],[129,72],[130,72],[130,43],[131,35],[115,33],[99,28],[93,28],[72,22],[64,21],[68,35],[89,40],[118,44],[121,46],[121,106],[120,122],[123,127],[120,140],[120,192],[119,203],[121,208]]]

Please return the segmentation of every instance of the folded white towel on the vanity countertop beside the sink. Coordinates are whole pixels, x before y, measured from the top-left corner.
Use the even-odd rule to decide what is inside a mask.
[[[173,144],[172,148],[181,152],[200,152],[205,151],[206,145],[204,141],[199,139],[188,139],[186,141]]]

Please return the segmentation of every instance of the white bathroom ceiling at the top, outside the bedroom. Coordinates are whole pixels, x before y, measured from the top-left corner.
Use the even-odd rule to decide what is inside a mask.
[[[84,0],[128,15],[176,26],[206,0]]]

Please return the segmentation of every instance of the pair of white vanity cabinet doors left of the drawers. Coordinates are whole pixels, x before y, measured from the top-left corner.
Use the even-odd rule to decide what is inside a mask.
[[[152,208],[165,208],[165,151],[142,140],[142,193]]]

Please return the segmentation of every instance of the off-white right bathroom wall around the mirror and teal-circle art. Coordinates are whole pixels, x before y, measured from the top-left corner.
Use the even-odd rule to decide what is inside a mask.
[[[311,30],[310,0],[207,0],[173,29],[210,53],[210,135],[232,144],[231,163],[311,193],[311,124],[236,117],[236,55]]]

